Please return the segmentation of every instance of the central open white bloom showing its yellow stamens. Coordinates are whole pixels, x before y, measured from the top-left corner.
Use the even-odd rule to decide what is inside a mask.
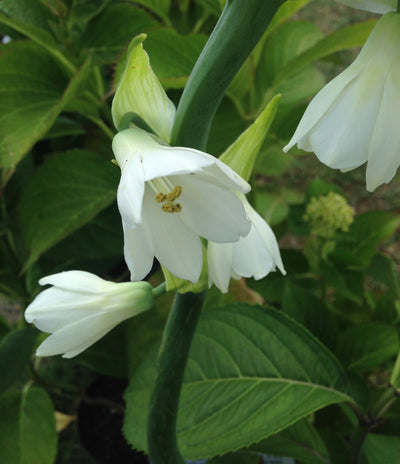
[[[139,129],[118,133],[113,151],[122,171],[117,199],[132,280],[143,279],[156,257],[172,274],[197,282],[200,237],[235,242],[249,233],[233,191],[250,186],[213,156],[162,146]]]

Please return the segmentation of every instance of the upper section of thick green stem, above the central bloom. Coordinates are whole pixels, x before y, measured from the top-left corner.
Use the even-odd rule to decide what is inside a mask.
[[[182,94],[172,145],[206,148],[215,112],[282,0],[227,0]]]

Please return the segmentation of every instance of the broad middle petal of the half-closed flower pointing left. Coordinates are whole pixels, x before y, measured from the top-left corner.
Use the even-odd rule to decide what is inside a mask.
[[[104,298],[101,294],[52,287],[40,293],[27,307],[25,319],[44,332],[54,332],[96,313],[103,305]]]

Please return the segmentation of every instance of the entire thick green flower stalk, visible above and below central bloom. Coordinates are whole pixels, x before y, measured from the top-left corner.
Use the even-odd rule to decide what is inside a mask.
[[[182,95],[172,144],[204,150],[222,97],[277,11],[280,0],[228,0]],[[183,464],[176,440],[179,395],[204,293],[178,294],[164,330],[147,438],[153,464]]]

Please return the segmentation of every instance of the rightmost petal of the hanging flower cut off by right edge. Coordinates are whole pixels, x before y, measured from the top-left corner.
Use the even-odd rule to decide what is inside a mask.
[[[388,183],[400,165],[400,78],[391,71],[386,79],[382,104],[373,130],[367,165],[367,190]]]

